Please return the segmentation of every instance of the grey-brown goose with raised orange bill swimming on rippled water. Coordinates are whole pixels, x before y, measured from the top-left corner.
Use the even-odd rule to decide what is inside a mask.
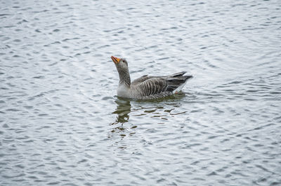
[[[119,73],[117,96],[129,99],[159,99],[178,94],[183,86],[192,78],[183,76],[186,72],[178,72],[169,76],[141,76],[131,82],[128,62],[124,58],[111,57]]]

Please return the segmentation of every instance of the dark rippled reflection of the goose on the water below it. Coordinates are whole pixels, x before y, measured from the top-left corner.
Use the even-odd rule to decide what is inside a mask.
[[[164,99],[150,100],[150,101],[140,101],[123,99],[118,97],[115,100],[117,108],[112,114],[116,115],[115,122],[111,122],[109,138],[115,138],[121,136],[121,140],[125,136],[131,136],[136,133],[136,128],[138,126],[129,123],[129,117],[145,117],[149,121],[149,118],[159,118],[158,124],[164,124],[164,122],[169,121],[169,118],[173,118],[174,115],[181,115],[186,113],[186,111],[181,111],[178,113],[175,108],[181,107],[181,99],[185,94],[178,94],[175,96],[170,96]],[[131,118],[132,119],[132,118]],[[124,125],[124,123],[127,123]],[[115,144],[117,141],[115,141]],[[119,148],[126,148],[126,145],[122,145]]]

